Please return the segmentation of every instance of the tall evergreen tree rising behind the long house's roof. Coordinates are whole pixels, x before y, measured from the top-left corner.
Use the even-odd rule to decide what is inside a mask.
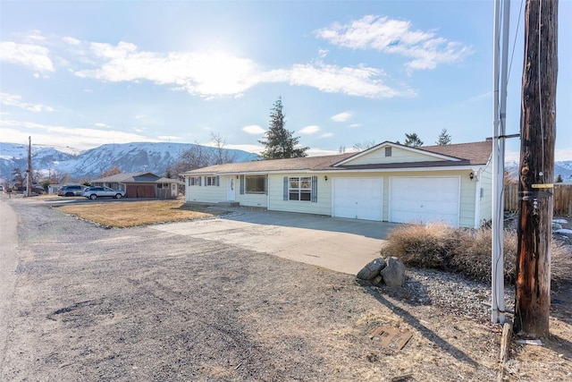
[[[299,137],[284,128],[286,121],[282,113],[282,98],[274,102],[270,113],[270,126],[265,132],[266,139],[258,140],[265,150],[260,154],[263,159],[282,159],[287,157],[306,157],[309,148],[296,148]]]

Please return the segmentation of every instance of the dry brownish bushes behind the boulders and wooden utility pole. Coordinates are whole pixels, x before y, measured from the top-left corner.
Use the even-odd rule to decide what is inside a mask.
[[[517,233],[503,234],[504,275],[515,283]],[[445,269],[480,281],[491,279],[491,229],[476,232],[444,224],[403,225],[388,235],[383,256],[395,256],[412,267]],[[572,253],[560,242],[551,243],[551,277],[555,283],[572,281]]]

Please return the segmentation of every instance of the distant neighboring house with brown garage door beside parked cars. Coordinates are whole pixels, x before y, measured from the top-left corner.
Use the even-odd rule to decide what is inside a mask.
[[[153,173],[123,173],[91,181],[93,186],[106,186],[125,191],[126,198],[176,199],[181,181]]]

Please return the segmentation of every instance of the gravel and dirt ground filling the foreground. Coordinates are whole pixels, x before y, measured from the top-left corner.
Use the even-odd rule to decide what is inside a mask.
[[[104,229],[42,203],[7,202],[20,245],[0,380],[496,378],[501,327],[484,306],[488,285],[408,269],[403,288],[372,287],[221,242]],[[506,380],[572,378],[568,310],[551,320],[544,347],[513,345]],[[381,325],[413,337],[385,350],[370,338]]]

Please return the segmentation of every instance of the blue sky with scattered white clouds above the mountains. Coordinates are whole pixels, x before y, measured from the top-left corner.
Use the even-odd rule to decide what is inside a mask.
[[[521,4],[508,133],[519,129]],[[2,0],[0,15],[1,141],[209,144],[214,132],[257,152],[279,97],[311,155],[406,132],[425,145],[442,129],[453,143],[492,136],[492,1]],[[556,160],[572,160],[570,20],[561,0]],[[507,158],[518,149],[510,140]]]

